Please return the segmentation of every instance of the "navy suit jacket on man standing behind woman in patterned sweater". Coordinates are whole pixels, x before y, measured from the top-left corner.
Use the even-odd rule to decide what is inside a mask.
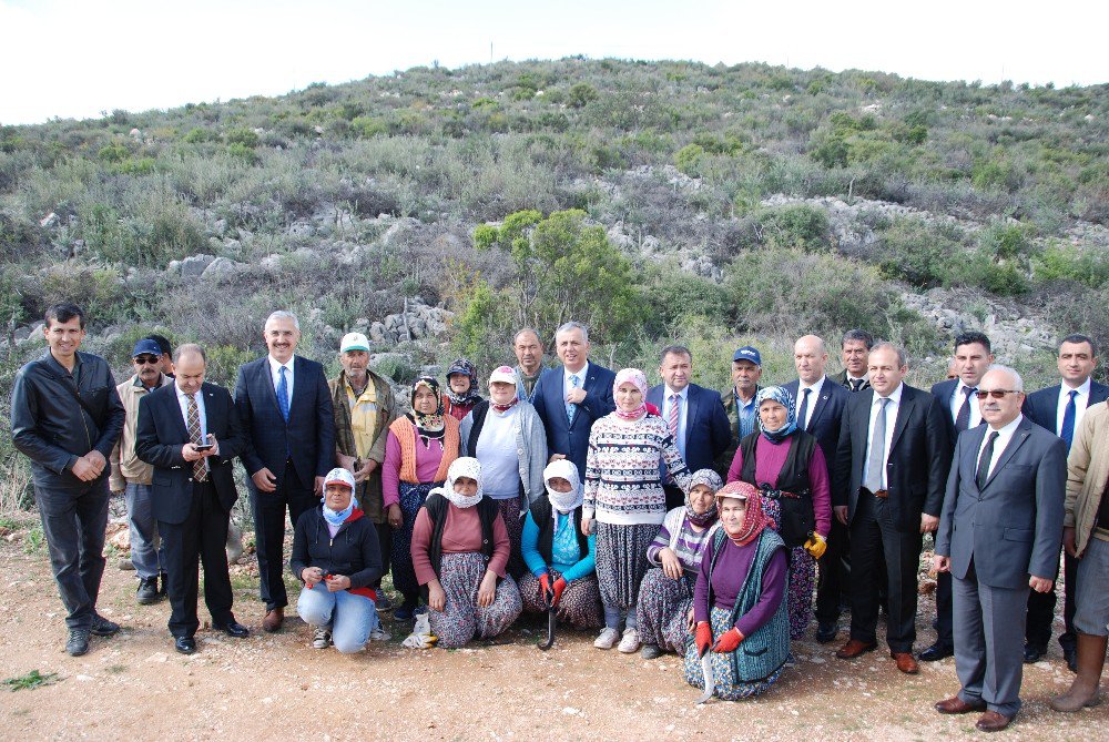
[[[590,362],[589,376],[582,388],[586,398],[570,424],[566,416],[566,390],[562,388],[561,366],[549,369],[536,383],[535,402],[539,419],[547,431],[548,454],[562,454],[578,467],[578,476],[586,481],[586,454],[589,451],[589,430],[596,420],[617,408],[612,399],[612,384],[617,375]]]

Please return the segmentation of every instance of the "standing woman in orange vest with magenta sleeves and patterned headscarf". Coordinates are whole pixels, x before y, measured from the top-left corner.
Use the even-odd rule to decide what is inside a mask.
[[[394,617],[406,621],[419,607],[419,583],[413,571],[411,537],[416,514],[433,487],[447,478],[447,469],[459,455],[458,420],[444,414],[439,383],[420,376],[413,384],[413,411],[389,425],[381,467],[386,510],[400,505],[404,520],[393,536],[393,587],[404,603]]]

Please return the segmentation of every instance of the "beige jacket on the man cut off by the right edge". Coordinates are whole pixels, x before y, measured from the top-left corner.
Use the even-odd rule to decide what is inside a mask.
[[[1067,458],[1067,505],[1064,528],[1075,529],[1075,550],[1082,556],[1098,520],[1109,481],[1109,403],[1086,410]]]

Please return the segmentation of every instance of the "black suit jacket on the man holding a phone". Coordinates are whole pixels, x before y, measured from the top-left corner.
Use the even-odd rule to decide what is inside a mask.
[[[233,461],[246,447],[246,434],[227,389],[204,383],[201,394],[204,395],[206,429],[220,445],[220,453],[207,458],[208,480],[215,488],[220,506],[231,512],[238,498]],[[193,464],[181,456],[181,447],[190,440],[177,403],[176,384],[159,387],[139,400],[135,454],[154,467],[151,505],[157,520],[180,524],[189,517],[193,499]]]

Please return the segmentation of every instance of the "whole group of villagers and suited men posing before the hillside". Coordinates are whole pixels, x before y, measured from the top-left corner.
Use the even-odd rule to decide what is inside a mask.
[[[50,307],[43,332],[48,352],[16,378],[12,433],[33,464],[72,654],[119,629],[95,610],[109,487],[126,492],[136,599],[156,600],[162,580],[177,650],[196,649],[201,561],[213,627],[248,634],[224,556],[238,458],[262,627],[279,631],[288,604],[288,517],[297,612],[318,648],[386,638],[385,610],[427,612],[448,648],[551,612],[599,630],[599,649],[676,653],[692,685],[734,700],[773,685],[814,613],[826,643],[849,607],[841,659],[874,650],[882,607],[896,667],[912,674],[954,654],[962,690],[937,710],[980,711],[978,728],[993,731],[1020,707],[1022,663],[1046,652],[1065,545],[1060,643],[1077,678],[1052,707],[1097,700],[1109,388],[1090,378],[1086,336],[1064,339],[1061,384],[1027,396],[981,333],[956,338],[954,378],[925,392],[904,383],[901,348],[858,329],[842,338],[837,377],[824,340],[800,338],[797,378],[781,386],[762,386],[759,349],[742,347],[722,396],[692,383],[683,346],[661,352],[652,387],[641,369],[591,362],[588,329],[571,322],[554,334],[560,365],[547,367],[539,333],[521,329],[518,364],[484,389],[458,359],[445,387],[417,378],[406,408],[369,369],[365,336],[343,338],[327,379],[295,354],[287,312],[267,318],[268,353],[240,369],[234,398],[204,380],[197,345],[165,366],[161,338],[140,340],[134,376],[116,386],[102,358],[78,352],[80,308]],[[929,532],[937,640],[914,655]],[[381,590],[386,572],[399,604]]]

